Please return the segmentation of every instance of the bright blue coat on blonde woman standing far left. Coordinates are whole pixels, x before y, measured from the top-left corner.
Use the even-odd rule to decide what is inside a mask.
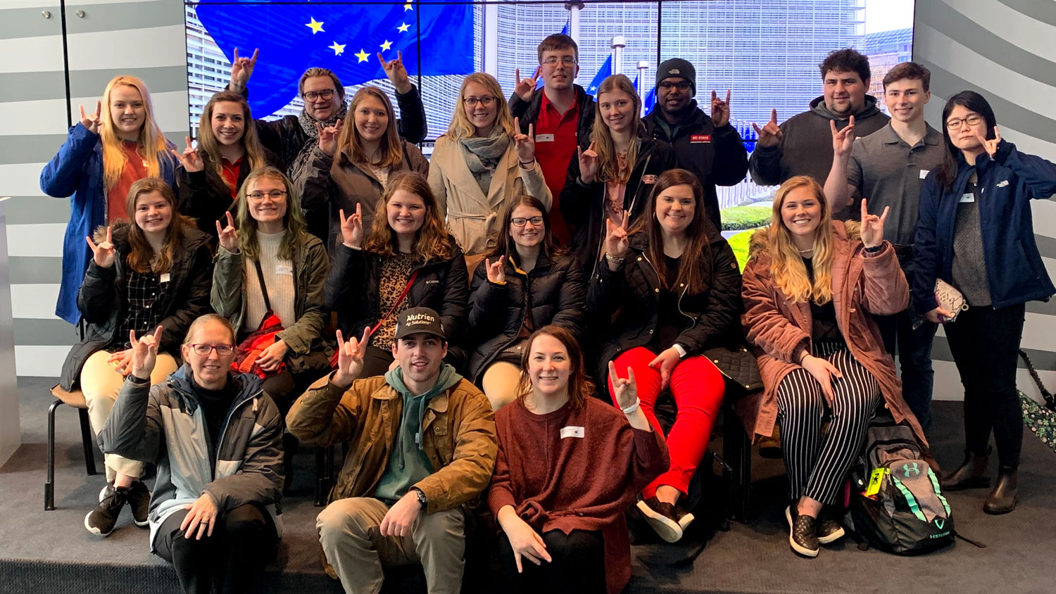
[[[175,159],[158,153],[159,176],[175,189]],[[102,179],[102,140],[80,122],[40,172],[40,189],[49,196],[70,196],[70,222],[62,238],[62,284],[55,314],[71,324],[80,320],[77,290],[84,280],[91,250],[84,237],[107,224],[107,190]]]

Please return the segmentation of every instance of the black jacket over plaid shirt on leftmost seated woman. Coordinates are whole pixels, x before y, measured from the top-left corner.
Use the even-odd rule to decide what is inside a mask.
[[[114,265],[96,266],[89,261],[84,282],[77,292],[77,307],[87,324],[84,340],[74,345],[62,363],[59,385],[74,389],[80,379],[80,369],[95,351],[106,348],[115,338],[121,342],[128,337],[114,337],[125,317],[125,268],[130,250],[129,225],[113,227],[112,239],[117,249]],[[209,237],[197,229],[188,229],[183,245],[173,250],[169,282],[156,306],[162,310],[162,344],[159,352],[180,360],[180,345],[187,328],[195,318],[212,311],[209,307],[209,288],[212,285],[212,253]],[[152,329],[153,330],[153,329]]]

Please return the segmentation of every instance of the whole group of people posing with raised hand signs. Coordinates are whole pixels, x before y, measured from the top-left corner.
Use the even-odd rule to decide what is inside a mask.
[[[988,483],[993,432],[985,509],[1015,507],[1023,303],[1056,292],[1026,200],[1056,191],[1056,166],[1001,140],[978,94],[951,97],[939,133],[928,72],[900,64],[888,120],[868,60],[836,51],[811,111],[756,127],[749,161],[729,93],[704,113],[685,60],[660,65],[641,118],[626,77],[597,98],[573,84],[578,49],[553,35],[509,102],[468,76],[427,161],[399,59],[379,56],[401,119],[379,89],[346,107],[309,69],[303,112],[275,121],[245,101],[256,60],[235,58],[183,151],[143,82],[114,78],[41,174],[72,195],[57,313],[87,323],[60,384],[84,392],[106,454],[84,525],[109,534],[127,503],[185,591],[253,591],[300,442],[348,445],[317,519],[346,592],[409,561],[457,592],[480,498],[509,588],[619,592],[624,512],[681,538],[723,397],[753,439],[780,427],[790,545],[815,556],[843,536],[837,495],[879,405],[926,448],[947,321],[967,454],[944,485]],[[780,188],[742,275],[715,186],[749,171]],[[968,309],[937,307],[937,280]]]

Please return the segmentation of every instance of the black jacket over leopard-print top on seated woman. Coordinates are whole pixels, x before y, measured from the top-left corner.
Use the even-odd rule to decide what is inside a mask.
[[[469,309],[469,272],[458,243],[448,237],[454,246],[450,258],[432,258],[412,269],[412,273],[417,270],[418,275],[407,293],[407,306],[429,307],[439,313],[448,336],[448,351],[452,352],[450,360],[465,363],[465,352],[457,344],[464,336]],[[383,256],[379,254],[355,250],[344,244],[337,246],[334,265],[326,277],[325,305],[337,312],[337,325],[345,337],[361,338],[364,328],[377,324],[388,313],[381,311],[378,295],[382,262]]]

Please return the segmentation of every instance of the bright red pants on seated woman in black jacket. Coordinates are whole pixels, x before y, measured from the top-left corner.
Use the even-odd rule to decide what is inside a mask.
[[[653,425],[653,430],[663,434],[653,411],[661,391],[660,369],[648,366],[654,359],[656,353],[639,346],[621,352],[614,363],[616,372],[621,378],[627,377],[627,367],[635,370],[642,411]],[[718,416],[719,405],[722,404],[725,381],[711,361],[704,357],[694,356],[686,357],[675,366],[671,372],[668,387],[678,408],[675,424],[666,436],[671,468],[642,491],[642,496],[646,499],[653,497],[657,487],[662,484],[674,486],[683,496],[689,493],[690,480],[697,472],[700,459],[708,452],[715,418]],[[611,380],[608,380],[608,392],[612,397],[612,402],[616,402]]]

